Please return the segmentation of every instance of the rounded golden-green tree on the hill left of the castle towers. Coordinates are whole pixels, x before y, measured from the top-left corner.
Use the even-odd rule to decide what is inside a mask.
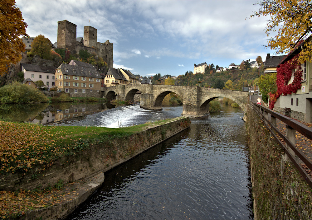
[[[32,42],[32,55],[38,55],[42,59],[51,59],[51,42],[43,35],[38,35]]]

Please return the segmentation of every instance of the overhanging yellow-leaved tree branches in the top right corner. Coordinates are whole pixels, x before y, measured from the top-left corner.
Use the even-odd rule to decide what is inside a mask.
[[[266,23],[266,35],[274,37],[267,39],[268,48],[276,54],[289,53],[296,45],[306,40],[312,34],[311,1],[265,0],[257,2],[260,9],[250,16],[270,16]],[[277,33],[276,33],[277,32]],[[306,41],[300,52],[299,63],[305,60],[311,62],[311,40]]]

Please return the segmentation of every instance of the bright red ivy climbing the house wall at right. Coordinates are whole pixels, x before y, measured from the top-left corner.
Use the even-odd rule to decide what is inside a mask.
[[[274,108],[274,104],[280,95],[286,96],[291,95],[292,93],[296,93],[298,89],[301,87],[301,77],[302,77],[302,69],[301,65],[298,62],[299,54],[294,56],[291,60],[280,64],[280,67],[276,69],[276,84],[277,84],[277,92],[276,93],[269,93],[270,96],[270,109]],[[288,82],[292,76],[293,70],[294,72],[294,79],[288,85]]]

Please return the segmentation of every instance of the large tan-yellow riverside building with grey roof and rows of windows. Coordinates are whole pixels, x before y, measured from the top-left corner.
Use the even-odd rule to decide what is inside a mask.
[[[95,68],[85,68],[62,63],[55,70],[58,91],[70,93],[71,97],[100,97],[101,76]]]

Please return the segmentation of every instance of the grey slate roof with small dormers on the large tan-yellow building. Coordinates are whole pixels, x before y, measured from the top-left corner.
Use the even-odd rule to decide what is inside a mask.
[[[101,78],[100,73],[98,73],[95,68],[85,68],[85,67],[74,66],[74,65],[62,63],[56,69],[61,69],[62,73],[65,75],[93,77],[93,78],[99,78],[99,79]],[[67,73],[66,73],[66,69],[68,70]],[[76,73],[74,71],[76,71]],[[82,72],[84,72],[84,74],[82,74]],[[90,75],[90,73],[91,73],[91,75]]]

